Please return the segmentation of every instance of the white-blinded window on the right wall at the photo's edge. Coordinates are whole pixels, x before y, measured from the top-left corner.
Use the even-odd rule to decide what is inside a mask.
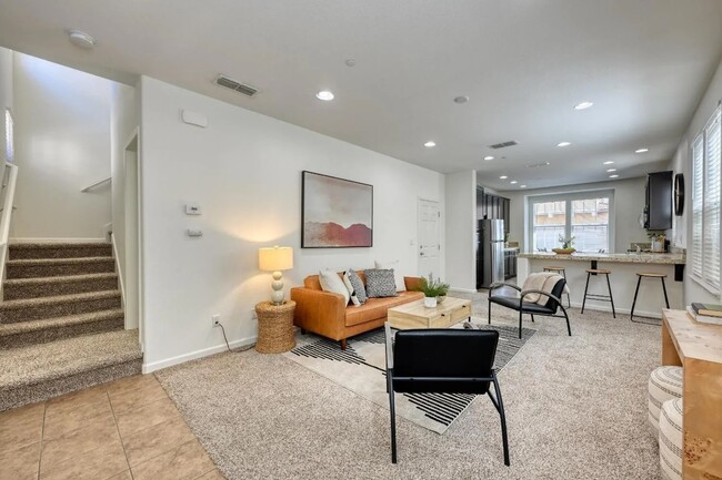
[[[704,289],[710,292],[713,295],[719,296],[722,293],[722,228],[721,228],[721,223],[722,223],[722,143],[720,144],[720,147],[716,152],[716,167],[718,167],[718,184],[716,184],[716,192],[718,192],[718,197],[716,198],[709,198],[709,175],[708,171],[710,168],[710,155],[709,155],[709,143],[708,139],[710,136],[710,132],[712,131],[711,129],[714,127],[716,123],[716,129],[718,129],[718,135],[720,135],[720,142],[722,142],[722,108],[720,104],[714,109],[712,112],[712,115],[710,119],[705,122],[704,126],[702,130],[694,136],[694,140],[690,143],[690,159],[691,159],[691,165],[692,165],[692,205],[691,205],[691,237],[690,237],[690,243],[691,243],[691,255],[689,255],[689,264],[690,267],[688,269],[688,277],[701,285]],[[695,153],[698,152],[696,149],[700,149],[702,154],[700,156],[695,156]],[[699,164],[701,163],[701,165]],[[702,170],[702,188],[700,192],[699,185],[695,182],[695,175],[698,173],[699,168]],[[710,202],[712,201],[712,202]],[[716,237],[716,245],[712,245],[713,247],[716,247],[715,254],[718,256],[718,265],[716,265],[716,276],[715,280],[716,284],[711,282],[710,277],[712,276],[705,266],[709,266],[710,263],[705,261],[705,249],[708,247],[706,239],[710,237],[708,235],[709,231],[705,225],[705,218],[706,218],[706,213],[708,213],[708,204],[712,204],[712,208],[716,211],[718,215],[718,237]],[[699,222],[699,223],[698,223]],[[695,233],[699,229],[700,234],[700,245],[699,248],[695,246]]]

